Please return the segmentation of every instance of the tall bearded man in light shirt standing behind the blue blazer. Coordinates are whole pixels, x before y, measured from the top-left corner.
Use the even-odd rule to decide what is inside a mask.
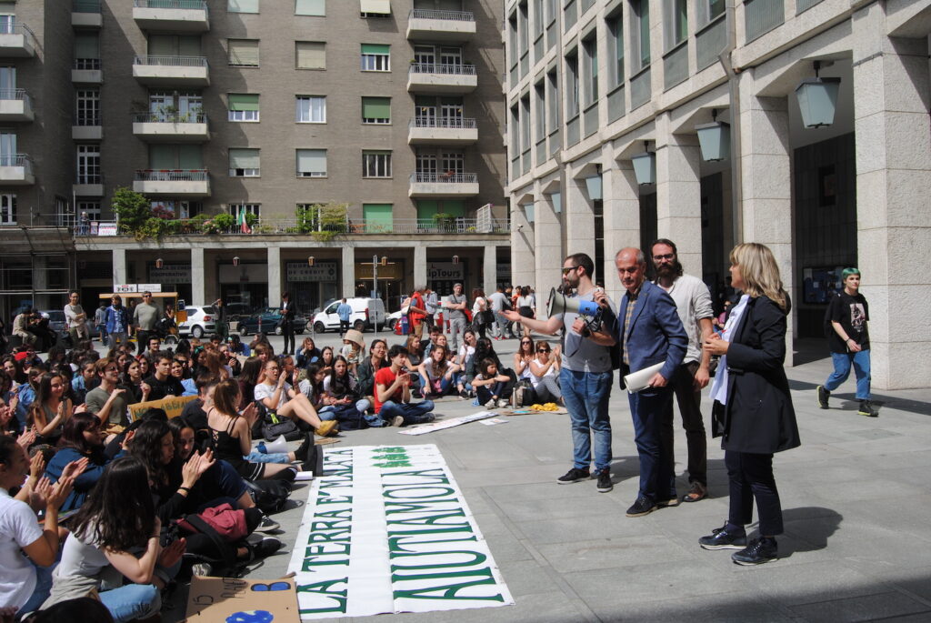
[[[679,403],[682,428],[685,429],[685,441],[688,446],[690,488],[689,492],[682,496],[682,502],[697,502],[708,494],[708,438],[701,416],[701,390],[708,386],[711,355],[708,350],[702,349],[701,345],[714,332],[711,326],[711,318],[714,317],[711,294],[704,281],[682,274],[679,250],[672,240],[659,238],[650,249],[656,269],[654,284],[672,297],[688,337],[685,359],[669,379],[669,385],[672,386]],[[675,474],[672,419],[672,402],[669,401],[666,412],[663,413],[661,433],[663,444],[668,447],[672,473]]]

